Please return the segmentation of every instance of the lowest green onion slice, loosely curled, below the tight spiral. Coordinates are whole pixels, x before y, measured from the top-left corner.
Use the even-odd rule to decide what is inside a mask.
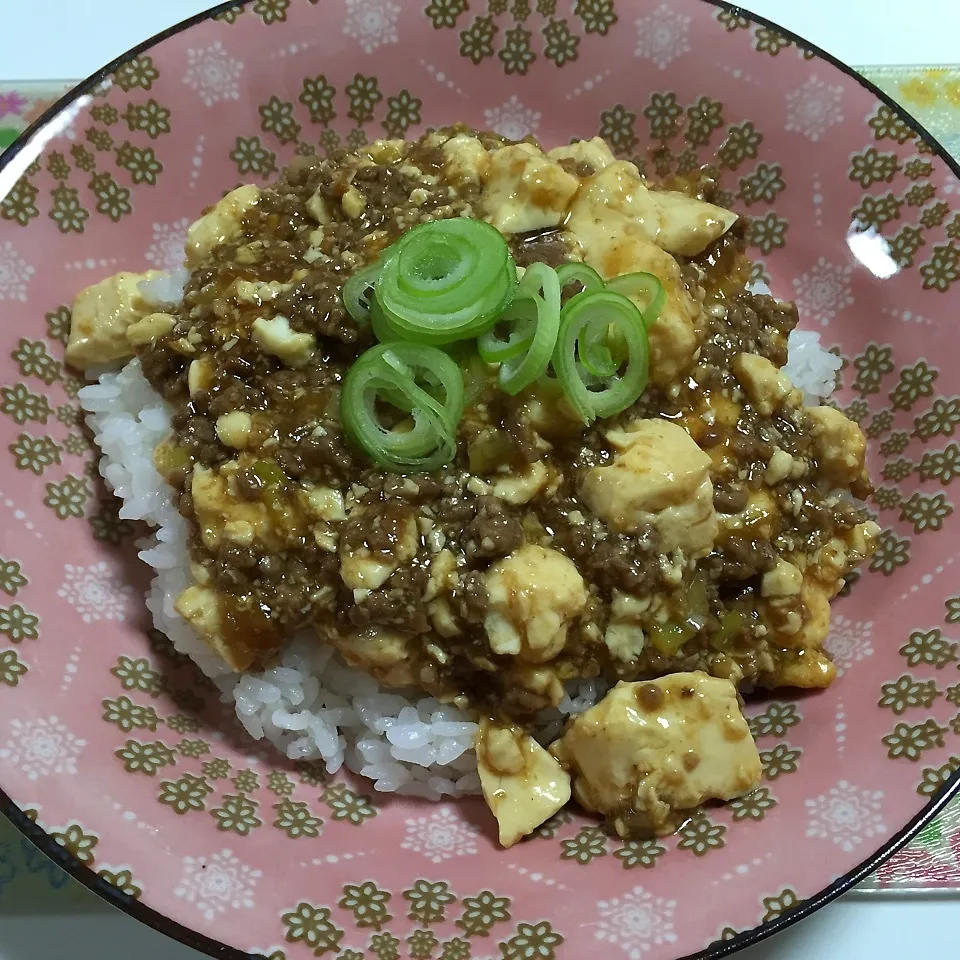
[[[408,414],[412,429],[384,426],[378,400]],[[382,343],[363,353],[347,372],[340,419],[347,434],[383,469],[430,471],[456,455],[463,402],[463,376],[442,350]]]

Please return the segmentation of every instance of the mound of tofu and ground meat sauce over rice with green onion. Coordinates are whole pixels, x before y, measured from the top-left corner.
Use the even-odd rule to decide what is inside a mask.
[[[793,329],[791,305],[748,292],[742,227],[712,183],[708,169],[650,183],[599,138],[549,152],[465,128],[378,141],[237,188],[191,227],[184,267],[78,297],[68,361],[125,362],[80,399],[121,518],[154,529],[140,553],[154,625],[251,736],[384,792],[483,787],[506,845],[571,792],[631,836],[757,785],[736,691],[830,683],[827,605],[879,528],[853,499],[872,489],[863,434],[822,405],[840,361]],[[399,412],[364,447],[342,394],[352,366],[402,341],[409,304],[391,306],[382,279],[404,262],[394,251],[429,234],[428,286],[463,283],[437,266],[450,223],[496,235],[470,272],[488,270],[497,306],[444,339],[450,308],[435,319],[414,301],[406,336],[435,352],[425,369],[450,362],[431,343],[479,334],[480,353],[461,355],[469,396],[449,449],[435,438],[407,461],[376,444],[406,443],[423,411],[388,394]],[[519,281],[494,296],[504,269]],[[566,318],[598,290],[634,311],[636,352],[584,373],[594,318],[569,335],[564,373]],[[306,510],[306,546],[281,500]],[[702,715],[683,716],[687,698]],[[631,729],[634,701],[671,733]],[[588,773],[582,752],[597,729],[617,731],[600,734],[607,764],[639,751],[605,796],[609,769]],[[715,741],[722,729],[736,733]],[[680,757],[689,782],[670,786]]]

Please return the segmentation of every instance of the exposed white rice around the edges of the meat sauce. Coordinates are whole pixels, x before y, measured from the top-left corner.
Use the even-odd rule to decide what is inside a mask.
[[[169,308],[182,299],[186,279],[185,270],[175,271],[144,281],[140,289],[152,305]],[[790,335],[785,370],[812,402],[832,392],[839,366],[818,334]],[[251,736],[267,739],[291,759],[322,760],[331,773],[346,766],[385,792],[429,799],[479,792],[473,750],[478,726],[469,716],[417,691],[381,688],[306,632],[291,640],[271,669],[232,672],[173,606],[188,586],[190,560],[186,521],[153,464],[154,450],[170,431],[169,410],[138,360],[101,375],[80,391],[80,402],[103,451],[100,473],[123,502],[120,516],[153,528],[138,546],[140,558],[156,571],[147,596],[154,625],[214,680]],[[538,739],[553,740],[568,717],[593,706],[606,689],[602,680],[568,684],[563,702],[541,715]]]

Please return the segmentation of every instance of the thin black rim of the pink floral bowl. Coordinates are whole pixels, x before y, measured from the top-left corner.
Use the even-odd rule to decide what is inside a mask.
[[[251,0],[226,0],[208,10],[189,17],[180,23],[162,30],[160,33],[144,40],[142,43],[132,47],[126,53],[112,60],[106,66],[101,67],[96,73],[87,77],[86,80],[77,84],[66,94],[64,94],[56,103],[49,107],[37,120],[35,120],[20,136],[0,155],[0,171],[9,166],[10,162],[20,153],[33,136],[50,122],[57,114],[62,112],[77,99],[94,89],[102,83],[107,77],[113,74],[123,64],[128,63],[134,57],[157,46],[164,40],[174,37],[185,30],[197,24],[204,23],[216,17],[220,13],[237,7],[246,6]],[[779,24],[761,17],[758,14],[751,13],[743,7],[728,3],[727,0],[700,0],[702,3],[725,10],[736,16],[741,16],[760,26],[775,30],[777,33],[787,37],[793,43],[802,49],[809,50],[819,59],[831,64],[841,73],[845,74],[851,80],[856,81],[864,87],[869,93],[889,106],[898,116],[907,122],[920,138],[933,150],[934,154],[942,160],[950,171],[960,180],[960,163],[958,163],[943,147],[943,145],[934,137],[924,126],[919,123],[907,110],[898,104],[892,97],[889,97],[879,87],[871,83],[865,77],[857,73],[852,67],[847,66],[841,60],[838,60],[832,54],[810,43],[803,37],[787,30]],[[710,946],[698,953],[687,954],[678,960],[719,960],[721,957],[730,956],[745,947],[760,943],[763,940],[779,933],[787,927],[793,926],[800,920],[809,917],[812,913],[819,910],[826,904],[831,903],[844,893],[855,887],[861,880],[873,873],[881,864],[889,860],[898,850],[906,846],[913,837],[917,835],[928,823],[930,823],[939,814],[955,795],[960,795],[960,770],[957,770],[946,783],[938,790],[923,807],[923,809],[898,833],[891,837],[882,847],[876,850],[871,856],[862,860],[856,867],[837,878],[828,887],[825,887],[815,896],[804,900],[794,910],[781,914],[776,919],[768,923],[760,924],[749,930],[743,930],[735,937],[729,940],[717,940]],[[23,835],[27,838],[41,853],[45,854],[68,873],[75,880],[82,883],[87,889],[92,890],[97,896],[105,900],[111,906],[122,910],[127,915],[139,920],[141,923],[152,927],[159,933],[165,934],[173,940],[177,940],[185,946],[192,947],[201,953],[210,957],[216,957],[218,960],[250,960],[250,954],[236,947],[228,946],[219,940],[214,940],[196,930],[183,926],[176,920],[165,916],[152,907],[141,903],[139,900],[128,896],[119,890],[113,884],[108,883],[102,877],[98,876],[89,867],[81,863],[73,854],[69,853],[60,844],[56,842],[42,827],[34,823],[23,810],[0,788],[0,814],[3,814]]]

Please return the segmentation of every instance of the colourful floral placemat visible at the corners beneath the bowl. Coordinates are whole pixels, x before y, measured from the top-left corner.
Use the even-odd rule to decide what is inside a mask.
[[[960,160],[960,67],[861,67]],[[0,83],[0,151],[71,86],[66,81]],[[865,880],[855,893],[960,894],[960,801]],[[0,817],[0,919],[106,907]]]

